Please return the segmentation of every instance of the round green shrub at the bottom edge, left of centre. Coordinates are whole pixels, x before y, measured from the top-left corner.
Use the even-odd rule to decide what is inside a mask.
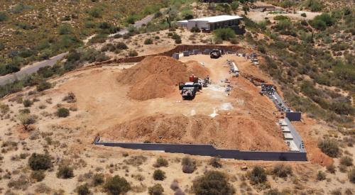
[[[131,189],[131,185],[127,182],[124,177],[119,177],[116,175],[106,180],[104,184],[104,189],[108,194],[125,194],[127,191]]]

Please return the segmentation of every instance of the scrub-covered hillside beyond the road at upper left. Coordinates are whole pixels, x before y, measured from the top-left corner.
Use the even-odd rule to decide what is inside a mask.
[[[164,0],[1,1],[0,74],[105,36],[168,6]]]

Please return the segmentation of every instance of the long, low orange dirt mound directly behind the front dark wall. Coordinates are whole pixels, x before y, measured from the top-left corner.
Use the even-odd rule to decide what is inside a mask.
[[[100,134],[103,138],[125,142],[204,143],[240,150],[287,150],[275,129],[244,116],[155,114],[119,123]]]

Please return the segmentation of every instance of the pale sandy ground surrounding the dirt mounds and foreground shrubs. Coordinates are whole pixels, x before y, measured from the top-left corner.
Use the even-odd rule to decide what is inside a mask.
[[[209,57],[193,56],[183,58],[182,61],[198,60],[204,62],[206,67],[214,69],[210,76],[212,77],[214,86],[218,89],[218,86],[222,87],[224,85],[219,80],[230,76],[228,68],[224,67],[227,58],[229,57],[222,57],[219,60],[212,61]],[[253,67],[253,65],[244,58],[231,57],[230,59],[237,63],[241,72],[249,72],[249,74],[254,74],[257,77],[269,81],[266,75],[259,72],[257,67]],[[84,176],[84,174],[88,175],[89,172],[102,173],[106,177],[116,174],[125,177],[133,186],[133,189],[129,191],[128,194],[147,194],[147,187],[157,183],[163,185],[165,194],[173,194],[173,191],[170,189],[170,184],[175,179],[178,180],[180,188],[185,191],[186,194],[190,194],[192,180],[203,174],[205,170],[214,169],[208,165],[210,157],[193,156],[192,158],[197,160],[197,170],[193,174],[184,174],[181,171],[180,162],[181,157],[184,155],[94,146],[92,145],[94,135],[96,135],[96,133],[102,133],[104,130],[109,130],[120,121],[131,119],[132,116],[135,116],[137,113],[154,115],[155,111],[159,111],[162,113],[185,114],[190,117],[190,107],[194,107],[195,112],[199,113],[201,116],[208,117],[212,120],[222,116],[234,116],[234,114],[238,113],[240,117],[244,117],[246,120],[248,120],[248,118],[259,117],[258,120],[254,122],[256,125],[267,124],[263,121],[263,118],[260,118],[260,113],[258,113],[257,110],[262,109],[260,104],[265,104],[262,106],[267,107],[270,103],[270,106],[272,106],[271,102],[268,103],[266,97],[256,94],[258,88],[249,85],[250,82],[244,80],[242,77],[231,79],[231,84],[234,86],[233,91],[236,93],[231,93],[230,96],[225,96],[222,91],[217,93],[213,90],[204,89],[201,94],[197,95],[196,99],[186,103],[181,101],[178,93],[171,94],[171,96],[165,99],[131,101],[126,99],[125,96],[125,91],[127,91],[129,86],[125,87],[112,82],[112,80],[116,80],[122,68],[129,68],[131,66],[132,65],[119,65],[118,67],[101,67],[71,72],[57,79],[52,79],[51,82],[56,84],[54,89],[28,96],[28,91],[34,90],[30,87],[18,93],[23,94],[23,99],[38,99],[38,101],[35,101],[29,108],[31,114],[38,116],[38,122],[34,124],[35,130],[31,133],[23,133],[16,119],[18,110],[24,108],[23,104],[18,104],[16,101],[9,101],[9,99],[13,99],[13,97],[16,97],[18,94],[13,94],[5,99],[1,99],[2,104],[8,104],[10,106],[10,113],[9,118],[6,116],[1,117],[0,142],[3,149],[1,156],[4,157],[4,159],[0,161],[1,169],[3,169],[3,172],[0,173],[2,177],[0,180],[0,194],[4,194],[9,189],[7,184],[12,179],[18,178],[26,178],[29,183],[26,184],[26,187],[23,187],[23,190],[11,188],[11,191],[16,192],[16,194],[46,194],[45,192],[40,192],[40,190],[45,188],[48,188],[48,194],[60,191],[64,191],[64,194],[75,194],[75,188],[78,185],[91,182],[89,178]],[[69,91],[75,93],[77,97],[75,103],[68,104],[62,101],[63,97]],[[215,97],[212,97],[212,95]],[[200,102],[202,99],[204,99],[207,104]],[[244,99],[244,101],[241,101],[241,99]],[[231,102],[233,108],[229,111],[217,111],[219,115],[211,118],[209,114],[212,113],[213,108],[225,102]],[[163,106],[162,108],[160,108],[160,104]],[[40,108],[40,106],[43,105],[45,108]],[[176,105],[173,111],[170,109],[172,105]],[[58,118],[55,116],[55,111],[58,106],[67,108],[75,107],[77,111],[70,111],[68,118]],[[148,108],[144,108],[143,106],[147,106]],[[252,108],[253,106],[255,106],[255,108]],[[141,109],[136,108],[136,110],[130,110],[133,107],[140,107]],[[123,111],[126,112],[123,113]],[[249,111],[249,113],[246,114],[246,111]],[[261,111],[265,114],[264,110]],[[272,111],[271,108],[271,113],[266,113],[265,117],[274,118],[273,120],[275,120],[277,116],[273,116]],[[270,125],[272,125],[275,130],[278,130],[276,125]],[[297,130],[300,130],[302,138],[306,140],[305,147],[307,151],[310,152],[310,155],[312,155],[312,151],[320,153],[317,151],[318,149],[315,145],[317,136],[323,135],[324,132],[327,132],[329,129],[324,128],[324,124],[308,120],[303,121],[303,123],[296,123],[295,126]],[[259,131],[259,129],[257,130]],[[273,129],[271,128],[271,130]],[[35,138],[34,135],[36,134],[38,138]],[[238,139],[240,140],[241,138]],[[5,147],[3,143],[8,141],[13,141],[17,144],[17,147],[12,149],[11,147]],[[281,142],[278,138],[275,139],[275,142],[277,141]],[[256,143],[257,142],[258,140],[256,140]],[[244,145],[246,144],[247,143],[244,143]],[[28,157],[24,160],[16,160],[16,156],[20,154],[31,154],[32,152],[43,153],[45,150],[53,157],[55,166],[53,169],[45,172],[46,176],[42,182],[34,182],[29,179],[31,170],[28,168]],[[351,154],[354,154],[354,147],[348,150]],[[129,156],[123,157],[123,152],[127,152]],[[135,155],[147,157],[146,162],[139,167],[127,165],[124,160],[129,160],[130,157]],[[163,156],[169,161],[169,167],[160,168],[167,173],[167,179],[161,182],[154,181],[152,178],[153,171],[156,169],[153,167],[153,163],[159,156]],[[325,163],[323,162],[327,161],[318,161],[317,159],[320,157],[316,155],[310,157],[312,157],[310,158],[311,162],[284,162],[287,165],[293,166],[293,176],[288,179],[277,179],[268,176],[271,187],[279,190],[291,189],[297,191],[297,193],[301,191],[314,191],[318,194],[329,194],[330,191],[338,188],[341,188],[342,191],[346,189],[354,191],[354,185],[347,182],[346,173],[339,171],[337,171],[337,174],[327,174],[328,179],[317,182],[315,179],[317,170],[322,169],[325,171],[325,168],[312,162],[324,165]],[[75,168],[75,177],[71,179],[58,179],[56,177],[55,174],[58,171],[58,165],[63,160],[69,161],[70,165]],[[241,187],[245,186],[245,184],[249,186],[249,192],[253,194],[263,194],[264,190],[258,188],[258,186],[249,184],[249,180],[246,180],[246,183],[244,183],[243,175],[246,174],[246,171],[241,170],[241,167],[247,167],[247,169],[250,170],[253,166],[260,165],[271,169],[278,163],[280,162],[222,160],[223,167],[218,170],[229,176],[231,184],[236,189],[236,194],[246,194],[246,187]],[[336,160],[335,163],[339,165],[339,160]],[[8,172],[11,173],[10,179],[6,176]],[[143,176],[143,181],[134,179],[134,175],[136,174]],[[94,194],[104,194],[102,186],[90,186],[90,190]]]

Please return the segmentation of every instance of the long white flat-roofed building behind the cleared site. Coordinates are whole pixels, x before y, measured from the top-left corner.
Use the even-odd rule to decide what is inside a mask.
[[[186,27],[191,30],[194,27],[200,28],[200,30],[214,30],[217,28],[235,27],[239,26],[239,23],[243,17],[241,16],[212,16],[207,18],[196,18],[188,21],[178,21],[178,26]]]

